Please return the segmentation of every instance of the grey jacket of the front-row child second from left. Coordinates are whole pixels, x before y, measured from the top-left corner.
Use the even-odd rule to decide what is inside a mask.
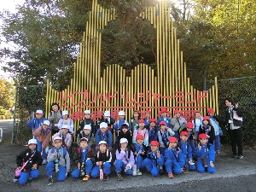
[[[66,150],[67,152],[67,149],[66,148],[52,148],[50,149],[49,153],[48,153],[48,156],[47,156],[47,161],[48,162],[55,162],[55,160],[59,160],[59,166],[66,166],[66,170],[67,172],[70,171],[70,157],[69,157],[69,154],[66,153],[65,156],[64,156],[64,150]],[[53,154],[51,154],[51,151],[56,151],[57,152],[57,156],[55,157]]]

